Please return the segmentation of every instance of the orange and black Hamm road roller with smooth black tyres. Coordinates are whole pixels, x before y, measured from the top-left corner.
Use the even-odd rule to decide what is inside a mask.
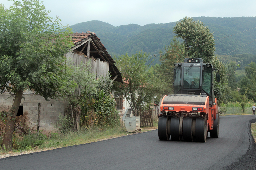
[[[218,138],[219,115],[214,98],[212,64],[201,58],[186,58],[174,64],[174,94],[162,99],[158,121],[160,140],[205,142],[210,136]],[[216,74],[219,81],[219,74]]]

